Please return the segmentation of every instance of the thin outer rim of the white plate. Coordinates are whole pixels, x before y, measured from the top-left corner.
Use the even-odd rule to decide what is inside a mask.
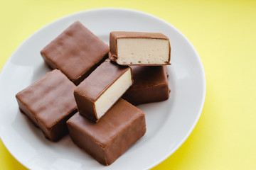
[[[43,30],[44,28],[58,22],[58,21],[61,21],[61,20],[64,20],[65,18],[68,18],[68,17],[71,17],[71,16],[75,16],[75,15],[79,15],[79,14],[82,14],[82,13],[90,13],[90,12],[97,12],[97,11],[127,11],[127,12],[132,12],[132,13],[137,13],[137,14],[142,14],[142,15],[145,15],[145,16],[150,16],[151,18],[155,18],[161,22],[164,22],[166,23],[166,25],[170,26],[171,28],[173,28],[174,30],[176,30],[187,42],[188,44],[191,46],[191,49],[195,52],[196,54],[196,59],[198,60],[198,63],[200,65],[200,69],[201,69],[201,77],[203,78],[203,98],[202,98],[202,101],[201,101],[201,106],[199,108],[199,111],[196,115],[196,120],[193,122],[193,125],[191,126],[190,130],[188,130],[188,132],[186,133],[186,135],[183,137],[183,139],[181,140],[181,142],[178,143],[178,145],[176,145],[176,147],[174,147],[174,149],[171,150],[171,152],[169,152],[169,154],[166,154],[164,157],[161,157],[161,159],[159,159],[158,162],[155,162],[154,164],[151,164],[151,166],[147,167],[146,169],[151,169],[153,168],[154,166],[160,164],[161,162],[164,162],[164,160],[166,160],[168,157],[170,157],[172,154],[174,154],[174,152],[176,152],[176,150],[178,148],[181,147],[181,145],[183,145],[183,143],[188,139],[188,137],[191,135],[191,132],[194,130],[194,128],[196,127],[196,124],[198,123],[198,120],[201,116],[201,113],[203,111],[203,106],[204,106],[204,103],[205,103],[205,100],[206,100],[206,74],[204,72],[204,69],[203,69],[203,63],[201,61],[201,58],[199,57],[198,55],[198,52],[196,51],[196,48],[193,47],[192,43],[190,42],[190,40],[188,40],[188,38],[186,38],[186,36],[181,33],[180,30],[178,30],[177,28],[175,28],[174,26],[171,25],[171,23],[168,23],[166,21],[164,21],[164,19],[161,19],[159,17],[156,17],[150,13],[146,13],[144,11],[138,11],[138,10],[134,10],[134,9],[131,9],[131,8],[91,8],[91,9],[87,9],[87,10],[84,10],[84,11],[78,11],[78,12],[75,12],[75,13],[70,13],[66,16],[62,16],[54,21],[51,21],[50,23],[46,24],[45,26],[39,28],[38,30],[36,30],[34,33],[32,33],[31,35],[28,36],[28,38],[26,38],[25,40],[23,40],[23,42],[21,42],[20,45],[18,45],[18,47],[16,47],[16,49],[14,50],[14,52],[11,53],[10,57],[8,58],[8,60],[5,62],[4,64],[4,67],[2,67],[1,69],[1,72],[0,72],[0,81],[3,77],[3,74],[5,74],[6,72],[6,68],[8,67],[9,63],[11,62],[11,59],[14,57],[14,55],[16,54],[16,52],[21,48],[21,46],[23,44],[25,44],[31,37],[33,37],[33,35],[36,35],[38,32],[40,32],[41,30]],[[7,147],[5,141],[2,139],[1,137],[1,128],[0,128],[0,139],[1,141],[3,142],[4,144],[4,147],[6,147],[6,149],[8,150],[8,152],[12,155],[12,157],[14,157],[20,164],[22,164],[23,166],[25,166],[27,169],[29,169],[28,165],[26,164],[23,164],[23,162],[20,161],[20,159],[18,157],[16,157],[16,155],[14,153],[12,153],[10,151],[10,149]]]

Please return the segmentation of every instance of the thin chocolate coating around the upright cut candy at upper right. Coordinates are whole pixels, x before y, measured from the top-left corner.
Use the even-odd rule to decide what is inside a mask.
[[[166,35],[162,33],[141,33],[141,32],[127,32],[127,31],[113,31],[110,33],[110,60],[116,62],[118,58],[117,52],[117,39],[119,38],[148,38],[148,39],[161,39],[161,40],[169,40]],[[169,41],[169,61],[166,65],[170,65],[171,60],[171,45]],[[127,64],[129,65],[129,64]],[[132,64],[135,65],[135,64]],[[159,65],[159,64],[137,64],[137,65]]]

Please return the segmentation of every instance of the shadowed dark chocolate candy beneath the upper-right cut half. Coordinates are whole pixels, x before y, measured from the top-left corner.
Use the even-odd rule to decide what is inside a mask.
[[[166,66],[132,66],[134,84],[122,96],[137,106],[169,98]]]

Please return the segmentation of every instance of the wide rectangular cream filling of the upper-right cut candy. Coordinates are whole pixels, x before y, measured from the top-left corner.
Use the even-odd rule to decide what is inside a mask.
[[[169,40],[149,38],[117,39],[118,64],[166,64]]]

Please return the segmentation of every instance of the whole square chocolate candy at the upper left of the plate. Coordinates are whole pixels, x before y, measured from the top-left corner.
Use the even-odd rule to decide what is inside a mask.
[[[96,35],[73,23],[41,50],[43,59],[52,69],[60,69],[76,85],[106,59],[109,47]]]

